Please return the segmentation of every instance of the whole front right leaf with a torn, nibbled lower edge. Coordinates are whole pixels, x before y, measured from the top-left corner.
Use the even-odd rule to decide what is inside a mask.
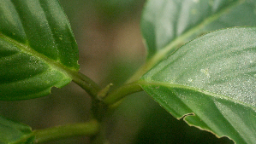
[[[256,27],[211,32],[185,44],[141,79],[142,88],[176,118],[256,141]]]

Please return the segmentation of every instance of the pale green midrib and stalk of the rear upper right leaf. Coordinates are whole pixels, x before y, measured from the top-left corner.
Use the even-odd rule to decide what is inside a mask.
[[[199,32],[202,30],[205,26],[209,25],[212,21],[217,20],[220,16],[223,14],[227,14],[229,10],[233,9],[235,6],[244,3],[245,0],[240,0],[237,1],[233,4],[230,4],[228,7],[226,7],[223,10],[220,10],[216,14],[212,14],[210,17],[207,19],[203,20],[199,25],[194,26],[192,29],[190,29],[188,32],[183,33],[180,37],[177,37],[173,41],[171,41],[170,44],[166,45],[163,49],[159,50],[156,55],[153,55],[150,60],[147,60],[146,63],[140,67],[140,69],[134,73],[134,75],[128,79],[127,83],[132,83],[136,80],[139,80],[140,77],[145,74],[147,71],[149,71],[153,66],[158,64],[160,60],[163,60],[164,57],[169,55],[170,53],[174,52],[178,46],[182,45],[184,41],[188,38],[191,37],[193,34]]]

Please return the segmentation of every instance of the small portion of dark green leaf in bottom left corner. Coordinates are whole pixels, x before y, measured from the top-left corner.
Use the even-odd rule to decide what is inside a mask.
[[[15,123],[6,118],[0,116],[0,144],[15,143],[33,143],[34,137],[28,136],[28,138],[21,141],[22,138],[32,134],[32,130],[25,124]]]

